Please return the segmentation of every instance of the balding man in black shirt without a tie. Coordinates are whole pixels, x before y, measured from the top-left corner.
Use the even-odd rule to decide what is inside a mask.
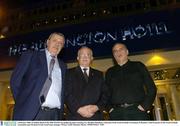
[[[155,99],[157,89],[146,66],[130,61],[128,49],[122,43],[116,43],[112,52],[117,65],[106,72],[110,119],[149,120],[147,110]]]

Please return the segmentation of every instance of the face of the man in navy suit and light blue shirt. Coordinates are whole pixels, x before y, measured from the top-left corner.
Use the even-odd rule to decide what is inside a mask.
[[[47,40],[48,51],[54,56],[58,55],[61,49],[64,47],[64,41],[64,37],[58,34],[53,34],[52,37]]]

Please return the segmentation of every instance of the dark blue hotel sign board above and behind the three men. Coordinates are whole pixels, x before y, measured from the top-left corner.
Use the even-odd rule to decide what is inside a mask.
[[[62,58],[76,59],[81,46],[92,48],[94,57],[111,56],[114,43],[122,42],[130,54],[154,49],[180,48],[180,9],[114,17],[112,19],[69,25],[0,40],[0,53],[16,56],[27,50],[43,50],[52,32],[66,37]]]

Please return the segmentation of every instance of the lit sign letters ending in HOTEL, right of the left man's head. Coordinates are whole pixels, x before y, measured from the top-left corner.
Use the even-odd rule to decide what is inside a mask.
[[[126,41],[128,39],[141,39],[143,37],[153,37],[157,35],[170,34],[167,25],[164,22],[152,23],[147,25],[138,25],[136,27],[124,27],[114,31],[95,31],[83,34],[73,35],[67,38],[66,47],[84,46],[93,43],[108,43],[112,41]]]

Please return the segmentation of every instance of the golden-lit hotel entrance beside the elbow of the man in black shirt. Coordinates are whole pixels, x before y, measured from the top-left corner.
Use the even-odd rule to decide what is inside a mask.
[[[180,120],[180,68],[151,71],[157,87],[154,120]]]

